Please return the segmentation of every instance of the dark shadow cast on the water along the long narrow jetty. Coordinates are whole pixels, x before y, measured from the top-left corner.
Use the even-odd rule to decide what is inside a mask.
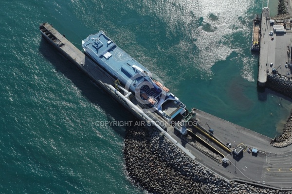
[[[86,97],[91,103],[98,105],[107,113],[107,120],[122,122],[125,120],[136,120],[121,104],[116,102],[91,79],[75,67],[68,59],[58,52],[50,43],[41,38],[38,51],[55,66],[56,72],[62,73],[73,84],[81,90],[82,96]],[[108,106],[110,104],[110,107]],[[114,108],[112,108],[114,107]],[[122,111],[121,111],[122,110]],[[126,118],[125,118],[126,117]],[[123,127],[112,126],[116,133],[125,137]]]

